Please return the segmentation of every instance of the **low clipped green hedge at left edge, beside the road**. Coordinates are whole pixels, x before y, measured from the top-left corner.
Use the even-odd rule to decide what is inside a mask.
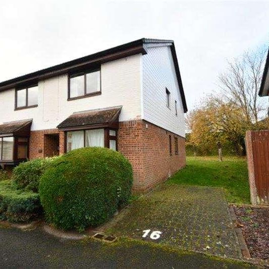
[[[11,181],[0,182],[0,220],[28,222],[42,212],[39,195],[14,189]]]

